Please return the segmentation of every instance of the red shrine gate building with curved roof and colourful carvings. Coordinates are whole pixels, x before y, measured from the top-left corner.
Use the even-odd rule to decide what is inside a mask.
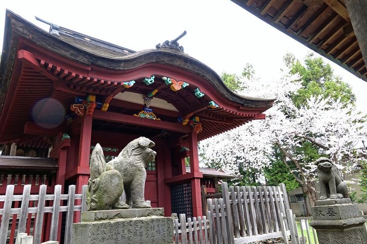
[[[164,207],[166,216],[202,216],[200,187],[210,174],[219,179],[223,173],[206,171],[203,177],[198,142],[265,119],[263,112],[274,100],[231,92],[177,40],[136,52],[50,26],[46,32],[6,12],[0,194],[7,184],[15,184],[15,194],[21,194],[28,183],[31,193],[38,193],[40,184],[47,184],[47,193],[55,184],[65,193],[75,184],[81,193],[97,142],[109,161],[144,136],[156,143],[157,152],[146,167],[145,199],[152,207]]]

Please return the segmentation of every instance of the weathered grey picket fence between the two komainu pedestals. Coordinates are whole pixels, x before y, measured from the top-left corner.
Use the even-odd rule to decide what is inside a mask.
[[[229,206],[229,207],[228,207]],[[207,199],[206,216],[174,222],[175,243],[237,244],[283,237],[299,244],[285,185],[228,187],[222,198]],[[183,234],[184,233],[184,234]]]

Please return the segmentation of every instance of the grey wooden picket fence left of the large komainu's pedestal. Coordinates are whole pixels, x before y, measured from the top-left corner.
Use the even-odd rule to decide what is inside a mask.
[[[3,202],[3,209],[0,209],[0,244],[6,244],[7,242],[12,244],[17,233],[33,235],[33,244],[40,244],[42,239],[41,234],[47,227],[44,221],[44,215],[46,213],[52,214],[49,226],[49,240],[59,241],[56,239],[59,224],[61,223],[61,219],[59,218],[61,212],[67,212],[64,240],[65,243],[70,243],[71,224],[73,223],[74,212],[84,212],[87,210],[87,185],[83,186],[82,194],[75,194],[75,185],[69,185],[68,194],[61,194],[61,185],[55,185],[54,194],[46,194],[46,188],[46,185],[40,185],[39,194],[30,195],[31,185],[26,184],[23,188],[23,195],[14,195],[14,185],[7,185],[6,194],[0,196],[0,202]],[[81,205],[75,205],[75,200],[81,200]],[[12,205],[18,206],[20,201],[21,207],[12,208]],[[46,204],[47,201],[48,203],[52,201],[52,203]],[[67,205],[63,203],[67,203]],[[9,228],[10,220],[11,225]],[[33,224],[34,226],[31,228]],[[15,233],[15,229],[17,233]]]

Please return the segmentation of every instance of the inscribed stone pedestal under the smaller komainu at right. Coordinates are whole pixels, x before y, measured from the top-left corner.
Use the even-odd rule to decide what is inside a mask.
[[[366,220],[349,198],[316,201],[312,214],[320,244],[367,244]]]

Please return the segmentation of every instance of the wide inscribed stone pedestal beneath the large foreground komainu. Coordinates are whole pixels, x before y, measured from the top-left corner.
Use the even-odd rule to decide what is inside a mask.
[[[163,208],[88,211],[72,225],[72,244],[173,243],[173,221]]]

